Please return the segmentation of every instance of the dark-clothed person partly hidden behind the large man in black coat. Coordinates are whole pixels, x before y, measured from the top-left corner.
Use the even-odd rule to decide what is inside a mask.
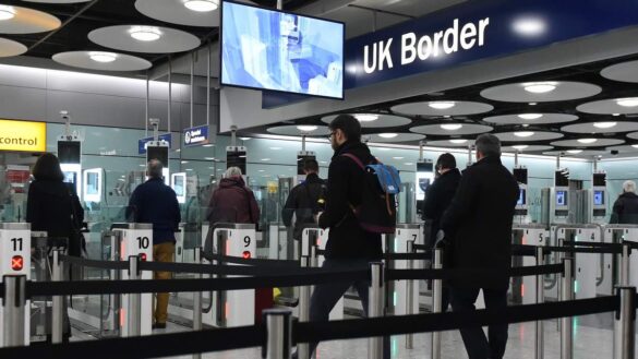
[[[461,177],[460,171],[456,168],[456,158],[449,153],[438,156],[436,160],[436,173],[438,177],[425,192],[425,201],[423,201],[422,208],[423,219],[430,222],[430,227],[426,228],[429,231],[426,236],[430,238],[428,242],[430,249],[434,247],[436,234],[441,227],[441,217],[449,206]],[[448,304],[449,288],[447,285],[444,285],[441,307],[444,312],[447,310]]]

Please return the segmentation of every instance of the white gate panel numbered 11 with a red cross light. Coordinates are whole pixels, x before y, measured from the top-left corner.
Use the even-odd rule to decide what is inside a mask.
[[[1,275],[31,274],[31,229],[26,223],[0,224]]]

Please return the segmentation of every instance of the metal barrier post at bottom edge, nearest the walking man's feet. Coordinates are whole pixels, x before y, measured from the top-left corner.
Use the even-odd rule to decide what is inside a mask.
[[[292,312],[288,309],[264,310],[266,343],[262,347],[264,359],[290,359],[292,345]]]

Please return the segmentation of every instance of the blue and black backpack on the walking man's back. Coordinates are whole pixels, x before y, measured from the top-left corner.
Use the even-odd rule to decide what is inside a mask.
[[[381,163],[364,165],[359,157],[344,154],[364,171],[362,202],[352,207],[361,228],[374,234],[394,234],[397,226],[395,195],[401,191],[399,171]]]

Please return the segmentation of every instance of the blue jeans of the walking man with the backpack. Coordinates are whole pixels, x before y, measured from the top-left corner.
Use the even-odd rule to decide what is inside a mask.
[[[326,259],[322,268],[332,271],[356,271],[369,270],[371,260],[364,259]],[[354,287],[361,298],[361,304],[365,316],[368,316],[368,289],[370,287],[369,280],[359,280],[354,283],[327,283],[314,287],[312,298],[310,299],[310,321],[328,321],[330,311],[337,304],[339,299],[346,294],[350,286]],[[310,352],[314,352],[318,343],[309,343]],[[389,337],[384,337],[384,358],[389,358]]]

